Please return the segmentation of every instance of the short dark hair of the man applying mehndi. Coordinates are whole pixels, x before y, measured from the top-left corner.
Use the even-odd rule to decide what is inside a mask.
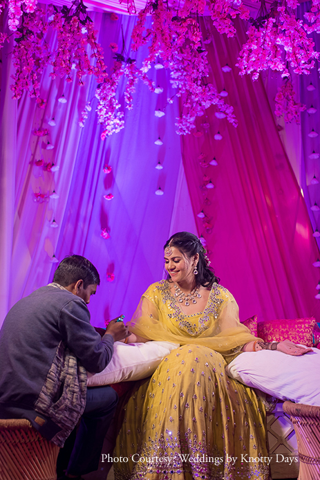
[[[84,281],[84,289],[88,285],[100,285],[99,273],[91,261],[81,255],[70,255],[59,263],[53,281],[59,285],[68,286],[78,280]]]

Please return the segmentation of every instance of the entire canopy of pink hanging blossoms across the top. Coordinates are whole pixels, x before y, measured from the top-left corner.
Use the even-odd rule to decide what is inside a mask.
[[[131,53],[126,46],[114,42],[110,48],[115,53],[111,71],[104,64],[103,50],[97,42],[97,32],[87,15],[82,0],[74,0],[71,7],[49,6],[46,11],[37,8],[37,0],[0,0],[0,11],[8,2],[8,26],[14,35],[13,62],[16,68],[11,89],[13,98],[19,99],[23,91],[37,98],[39,105],[45,104],[40,97],[39,75],[50,66],[50,75],[64,77],[72,82],[70,73],[76,70],[79,85],[84,84],[86,75],[97,80],[97,116],[104,127],[102,139],[117,133],[124,127],[124,112],[118,98],[120,79],[126,78],[124,103],[126,109],[133,108],[133,93],[138,80],[148,88],[161,93],[148,77],[151,66],[170,71],[171,86],[176,97],[182,98],[182,112],[176,122],[176,131],[186,134],[193,131],[197,116],[214,105],[216,116],[226,118],[236,127],[234,109],[225,102],[224,92],[218,93],[209,77],[207,50],[200,31],[198,16],[205,13],[209,5],[211,20],[221,34],[234,37],[236,28],[233,20],[238,16],[249,20],[247,41],[238,58],[240,75],[251,74],[256,80],[261,71],[271,68],[279,71],[285,85],[276,96],[276,115],[285,116],[286,121],[299,121],[303,106],[294,101],[290,76],[310,73],[319,52],[314,49],[310,33],[320,33],[320,2],[312,0],[310,12],[304,19],[297,19],[297,0],[279,0],[267,10],[265,0],[255,19],[241,0],[149,0],[138,12],[138,20],[131,35]],[[133,0],[128,2],[130,13],[135,13]],[[206,10],[207,11],[207,10]],[[147,28],[147,15],[151,15],[151,26]],[[114,15],[117,20],[117,15]],[[46,41],[49,29],[57,33],[57,48]],[[0,33],[0,48],[8,40],[8,33]],[[117,39],[115,39],[117,40]],[[149,55],[142,66],[135,62],[135,52],[149,44]],[[225,67],[224,67],[225,68]],[[228,66],[229,68],[229,66]],[[167,100],[167,104],[172,98]],[[82,112],[80,126],[88,116]],[[164,114],[164,111],[161,112]]]

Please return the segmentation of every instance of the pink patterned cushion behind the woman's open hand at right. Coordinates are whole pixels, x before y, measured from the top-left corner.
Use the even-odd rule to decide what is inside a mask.
[[[271,320],[258,322],[258,337],[265,342],[282,342],[291,340],[306,347],[312,347],[314,318],[297,318],[296,320]]]

